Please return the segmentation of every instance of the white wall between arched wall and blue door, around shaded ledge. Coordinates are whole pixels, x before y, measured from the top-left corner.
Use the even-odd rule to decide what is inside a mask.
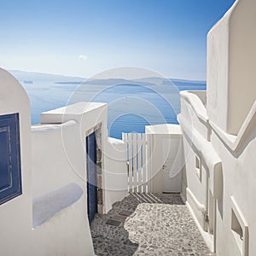
[[[70,156],[64,148],[63,137],[73,148],[77,166],[71,164]],[[69,137],[69,138],[68,138]],[[49,193],[75,183],[83,190],[83,195],[69,207],[56,209],[58,212],[45,223],[34,227],[34,250],[37,255],[93,255],[90,226],[87,218],[87,191],[85,182],[84,145],[79,141],[79,125],[68,121],[63,125],[38,125],[32,127],[32,195],[33,202],[44,204]],[[60,205],[60,195],[45,207]],[[62,205],[65,205],[65,199]],[[35,207],[35,206],[34,206]],[[44,210],[43,208],[43,210]],[[52,210],[49,208],[49,211]],[[40,211],[39,207],[39,211]],[[35,212],[36,211],[36,212]],[[47,213],[47,212],[46,212]],[[45,214],[45,211],[33,211],[33,218]],[[44,218],[44,216],[41,216]],[[34,221],[35,222],[35,221]],[[71,237],[76,237],[73,239]]]

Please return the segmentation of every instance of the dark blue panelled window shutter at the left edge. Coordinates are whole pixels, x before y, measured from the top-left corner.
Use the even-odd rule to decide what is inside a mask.
[[[22,194],[19,113],[0,115],[0,205]]]

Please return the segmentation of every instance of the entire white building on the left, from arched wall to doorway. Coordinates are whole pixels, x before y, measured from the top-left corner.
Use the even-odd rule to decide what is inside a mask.
[[[107,105],[78,103],[55,109],[42,114],[42,124],[31,127],[26,92],[3,69],[0,87],[1,140],[9,132],[9,116],[15,114],[17,131],[10,126],[9,134],[18,138],[12,147],[17,151],[21,184],[20,194],[10,198],[4,198],[4,189],[0,191],[1,255],[94,255],[87,216],[85,138],[99,131],[96,150],[105,151]],[[104,156],[99,155],[104,169]],[[99,180],[103,189],[104,172]],[[101,203],[104,212],[104,195]]]

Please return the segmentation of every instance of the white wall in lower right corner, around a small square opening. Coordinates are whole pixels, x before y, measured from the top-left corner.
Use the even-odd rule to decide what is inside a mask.
[[[212,132],[212,145],[218,148],[222,160],[222,182],[224,194],[217,204],[217,253],[218,255],[255,255],[256,254],[256,119],[251,121],[250,131],[239,147],[233,150],[219,137],[218,131]],[[229,135],[226,136],[228,138]],[[224,137],[223,137],[224,138]],[[231,229],[232,211],[240,218],[244,241]],[[246,229],[248,226],[248,230]],[[246,237],[247,236],[247,237]],[[228,245],[228,246],[227,246]]]

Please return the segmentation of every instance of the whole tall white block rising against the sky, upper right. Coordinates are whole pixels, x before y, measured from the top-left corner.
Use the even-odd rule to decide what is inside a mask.
[[[207,38],[207,113],[237,135],[256,100],[256,2],[236,1]]]

